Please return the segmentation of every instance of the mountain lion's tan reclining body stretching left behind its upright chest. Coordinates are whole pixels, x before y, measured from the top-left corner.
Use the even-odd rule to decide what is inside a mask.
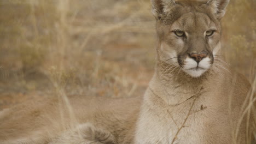
[[[141,98],[47,98],[4,110],[0,143],[129,143]],[[130,134],[130,135],[127,135]]]

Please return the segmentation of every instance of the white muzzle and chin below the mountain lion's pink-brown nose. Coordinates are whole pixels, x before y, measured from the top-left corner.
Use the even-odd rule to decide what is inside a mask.
[[[197,68],[199,67],[199,68]],[[197,65],[197,62],[192,58],[186,58],[183,66],[183,71],[193,77],[200,77],[211,67],[211,59],[206,57]],[[196,69],[197,68],[197,69]]]

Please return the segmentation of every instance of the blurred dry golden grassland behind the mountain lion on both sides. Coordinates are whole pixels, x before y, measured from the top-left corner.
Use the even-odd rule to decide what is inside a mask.
[[[252,83],[256,1],[231,0],[223,56]],[[0,0],[0,110],[65,93],[143,95],[154,73],[150,0]]]

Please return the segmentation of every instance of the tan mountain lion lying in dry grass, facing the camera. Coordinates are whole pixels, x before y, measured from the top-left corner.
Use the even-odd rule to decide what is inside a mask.
[[[157,61],[143,98],[30,101],[0,112],[0,143],[249,143],[251,85],[219,57],[228,3],[152,0]]]

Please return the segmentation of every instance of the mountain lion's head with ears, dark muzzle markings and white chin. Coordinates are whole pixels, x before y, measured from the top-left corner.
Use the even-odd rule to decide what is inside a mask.
[[[152,0],[158,61],[176,64],[192,77],[203,75],[212,67],[220,49],[220,19],[228,3],[229,0]]]

